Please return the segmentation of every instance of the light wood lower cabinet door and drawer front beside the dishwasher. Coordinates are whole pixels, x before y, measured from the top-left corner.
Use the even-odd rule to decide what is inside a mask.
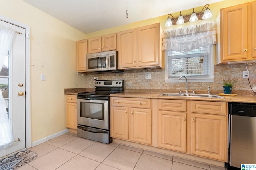
[[[226,102],[191,101],[191,154],[227,160]]]

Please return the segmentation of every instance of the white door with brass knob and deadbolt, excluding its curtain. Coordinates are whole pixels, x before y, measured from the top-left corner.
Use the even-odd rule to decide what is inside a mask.
[[[14,145],[0,150],[0,157],[26,147],[25,139],[25,29],[0,21],[16,30],[6,62],[0,72],[0,84],[9,121],[14,137]],[[4,85],[3,85],[4,84]],[[6,85],[7,84],[7,85]],[[6,88],[7,86],[7,88]],[[18,93],[20,92],[20,96]],[[22,94],[24,93],[24,94]]]

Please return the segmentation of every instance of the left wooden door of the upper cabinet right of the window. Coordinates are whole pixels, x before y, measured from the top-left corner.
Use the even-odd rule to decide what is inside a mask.
[[[223,62],[248,57],[247,12],[247,4],[221,10],[221,60]]]

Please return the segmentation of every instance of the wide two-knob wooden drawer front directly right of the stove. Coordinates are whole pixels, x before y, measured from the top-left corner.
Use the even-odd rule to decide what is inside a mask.
[[[116,98],[111,97],[111,106],[151,108],[151,100],[144,98]]]

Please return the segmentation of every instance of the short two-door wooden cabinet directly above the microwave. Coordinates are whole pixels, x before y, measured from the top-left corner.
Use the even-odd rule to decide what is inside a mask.
[[[88,53],[98,53],[116,49],[116,33],[88,39]]]

